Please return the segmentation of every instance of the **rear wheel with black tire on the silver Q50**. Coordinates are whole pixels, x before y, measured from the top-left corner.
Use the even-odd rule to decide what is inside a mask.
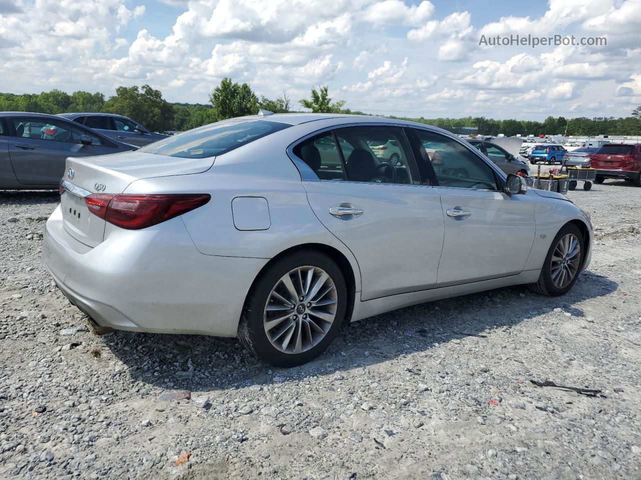
[[[310,269],[312,277],[306,281]],[[301,282],[297,282],[299,272]],[[322,275],[327,278],[317,287]],[[289,293],[290,288],[294,288],[297,298]],[[317,297],[319,292],[322,295]],[[312,305],[314,298],[319,303]],[[281,308],[285,307],[283,300],[296,301],[296,305]],[[344,321],[346,307],[347,286],[336,262],[324,253],[302,250],[276,260],[256,278],[240,317],[238,339],[263,362],[296,367],[328,348]],[[269,321],[276,322],[271,330],[265,326]]]

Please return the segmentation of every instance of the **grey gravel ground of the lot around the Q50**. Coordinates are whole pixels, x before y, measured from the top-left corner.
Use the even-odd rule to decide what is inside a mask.
[[[570,192],[597,244],[562,298],[404,308],[284,370],[233,339],[96,337],[40,257],[57,193],[0,192],[0,478],[639,479],[640,194]]]

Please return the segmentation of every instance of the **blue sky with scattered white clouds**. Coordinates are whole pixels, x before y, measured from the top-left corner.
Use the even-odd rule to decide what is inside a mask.
[[[0,0],[0,92],[107,97],[149,84],[207,103],[223,77],[293,100],[425,118],[629,116],[641,0]],[[607,45],[479,44],[497,35]]]

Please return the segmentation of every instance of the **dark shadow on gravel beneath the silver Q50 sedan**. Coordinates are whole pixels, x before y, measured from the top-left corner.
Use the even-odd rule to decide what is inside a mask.
[[[253,358],[236,339],[202,335],[117,332],[103,337],[131,376],[163,390],[211,392],[250,385],[333,375],[429,351],[435,344],[473,336],[488,339],[497,328],[553,312],[585,316],[580,303],[617,289],[612,280],[586,271],[572,291],[549,298],[526,287],[508,287],[448,300],[422,303],[344,326],[323,355],[292,369],[271,367]],[[554,311],[554,309],[562,309]]]

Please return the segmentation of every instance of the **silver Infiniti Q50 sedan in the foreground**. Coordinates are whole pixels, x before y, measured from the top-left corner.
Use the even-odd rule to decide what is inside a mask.
[[[370,148],[390,140],[395,166]],[[67,170],[44,260],[98,330],[238,337],[287,367],[395,308],[515,284],[564,294],[592,250],[565,196],[401,120],[247,116]]]

